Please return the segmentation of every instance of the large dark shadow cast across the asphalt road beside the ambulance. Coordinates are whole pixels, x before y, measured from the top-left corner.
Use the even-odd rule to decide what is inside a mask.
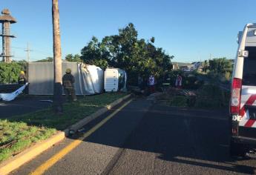
[[[143,112],[141,108],[134,110],[137,110],[137,113]],[[125,117],[122,116],[125,113],[131,113],[131,110],[123,110],[120,117]],[[145,113],[140,124],[129,134],[124,143],[121,144],[117,140],[122,134],[122,128],[127,126],[117,117],[99,128],[85,141],[155,153],[157,159],[165,162],[213,168],[229,173],[254,174],[256,166],[253,160],[229,157],[227,117],[225,112],[220,111],[209,112],[154,105]],[[133,119],[131,116],[130,118]],[[126,125],[130,124],[126,123]],[[114,132],[117,126],[119,133]],[[119,156],[122,156],[121,154]]]

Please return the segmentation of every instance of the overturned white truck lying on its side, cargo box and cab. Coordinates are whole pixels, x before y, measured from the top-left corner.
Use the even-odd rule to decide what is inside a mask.
[[[62,76],[70,68],[75,78],[76,95],[125,91],[127,73],[119,68],[107,68],[104,71],[95,65],[76,62],[62,62]],[[28,82],[30,95],[53,95],[53,62],[30,62],[28,64]]]

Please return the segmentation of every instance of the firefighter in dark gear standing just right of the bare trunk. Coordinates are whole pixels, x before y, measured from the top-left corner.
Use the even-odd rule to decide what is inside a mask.
[[[74,89],[73,83],[75,82],[75,78],[71,74],[71,69],[68,68],[66,70],[66,74],[62,77],[62,85],[64,87],[65,95],[66,95],[66,100],[70,99],[73,102],[75,102],[76,99],[76,91]]]

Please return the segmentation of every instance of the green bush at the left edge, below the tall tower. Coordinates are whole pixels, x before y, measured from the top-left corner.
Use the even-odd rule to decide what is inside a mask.
[[[22,65],[13,63],[0,63],[0,84],[18,82],[19,73],[24,70]]]

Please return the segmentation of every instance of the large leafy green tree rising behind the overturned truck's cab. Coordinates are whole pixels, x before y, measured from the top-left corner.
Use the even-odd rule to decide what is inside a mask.
[[[148,77],[154,74],[163,77],[165,70],[171,70],[171,59],[163,48],[154,46],[154,37],[150,42],[138,39],[134,24],[119,29],[118,35],[105,36],[99,42],[95,36],[81,51],[81,59],[93,65],[105,68],[119,67],[128,72],[128,82],[137,83],[137,76]]]

